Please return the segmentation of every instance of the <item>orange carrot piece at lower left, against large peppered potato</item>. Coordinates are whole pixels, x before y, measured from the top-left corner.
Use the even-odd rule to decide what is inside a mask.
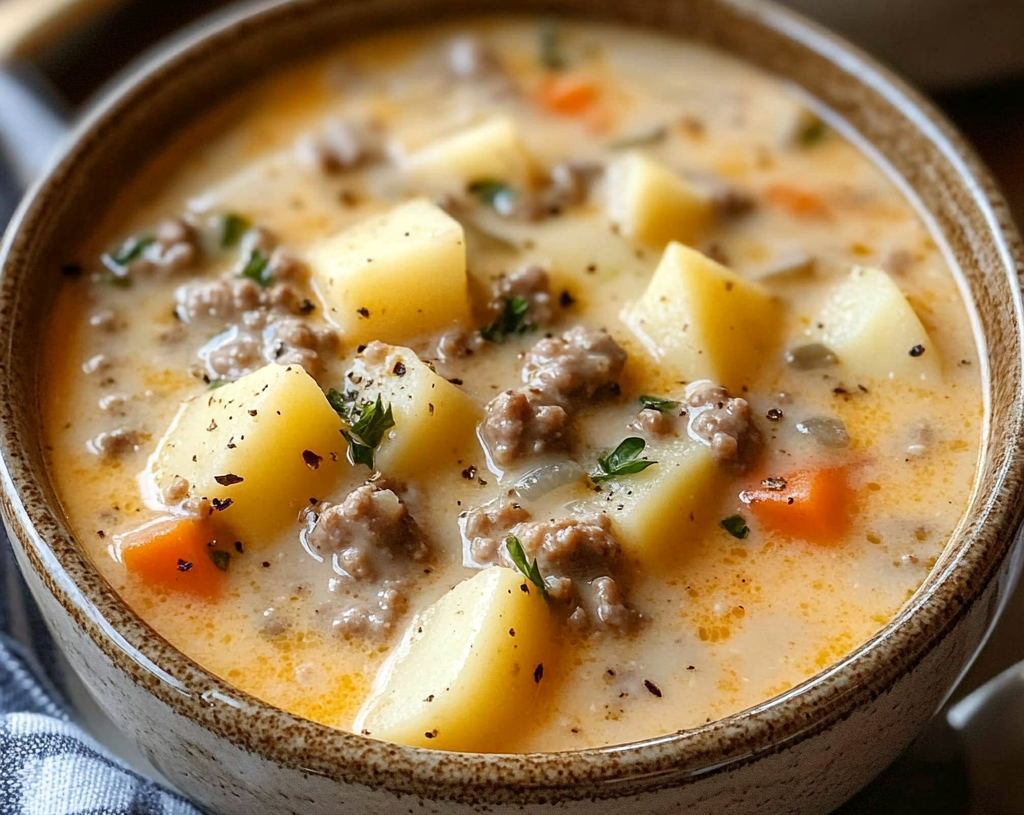
[[[224,583],[224,571],[211,555],[212,542],[210,524],[197,518],[156,521],[119,541],[129,574],[145,586],[206,600],[216,599]]]

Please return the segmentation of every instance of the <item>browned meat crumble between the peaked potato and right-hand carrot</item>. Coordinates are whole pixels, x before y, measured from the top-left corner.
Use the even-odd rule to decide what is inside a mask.
[[[686,386],[690,435],[711,446],[715,461],[743,471],[761,452],[761,432],[754,424],[746,399],[702,379]]]

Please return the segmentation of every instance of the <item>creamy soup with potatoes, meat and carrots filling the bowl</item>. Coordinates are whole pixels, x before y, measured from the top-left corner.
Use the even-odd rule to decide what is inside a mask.
[[[972,488],[928,225],[799,89],[654,34],[345,45],[68,261],[43,410],[83,546],[213,674],[371,737],[564,750],[762,702],[897,612]]]

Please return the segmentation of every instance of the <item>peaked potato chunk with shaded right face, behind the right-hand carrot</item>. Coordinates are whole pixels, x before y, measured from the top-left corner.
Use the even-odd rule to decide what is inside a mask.
[[[779,329],[778,306],[761,286],[676,243],[623,319],[667,376],[732,391],[758,370]]]

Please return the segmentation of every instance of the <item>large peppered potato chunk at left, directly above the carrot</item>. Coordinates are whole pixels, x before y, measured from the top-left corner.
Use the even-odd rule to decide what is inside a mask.
[[[159,502],[175,477],[193,496],[230,502],[216,513],[239,540],[258,545],[324,497],[345,462],[342,423],[299,366],[269,364],[186,401],[143,474]]]

